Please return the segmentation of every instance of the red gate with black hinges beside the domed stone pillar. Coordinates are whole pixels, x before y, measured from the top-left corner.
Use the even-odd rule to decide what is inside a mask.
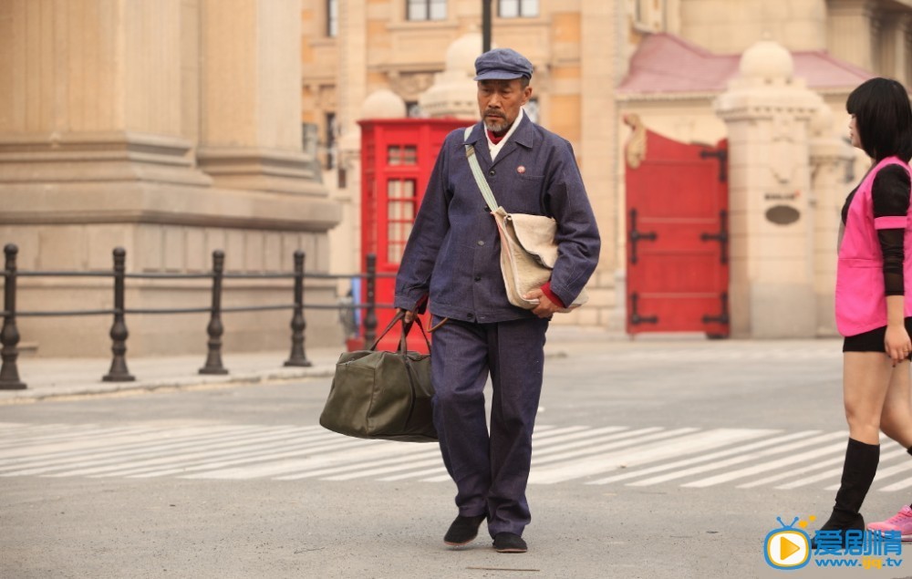
[[[726,142],[634,128],[627,144],[627,333],[729,335]]]

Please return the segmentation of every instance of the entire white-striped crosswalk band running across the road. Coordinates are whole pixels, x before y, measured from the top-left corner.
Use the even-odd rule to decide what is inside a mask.
[[[673,484],[790,491],[838,485],[845,432],[543,424],[530,484]],[[881,454],[874,487],[912,487],[905,449]],[[0,477],[450,482],[436,444],[351,439],[316,425],[210,421],[130,426],[0,422]]]

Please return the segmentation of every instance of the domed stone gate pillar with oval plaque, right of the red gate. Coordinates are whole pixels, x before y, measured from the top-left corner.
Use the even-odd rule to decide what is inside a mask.
[[[762,40],[716,99],[729,133],[731,335],[817,333],[808,122],[823,100]]]

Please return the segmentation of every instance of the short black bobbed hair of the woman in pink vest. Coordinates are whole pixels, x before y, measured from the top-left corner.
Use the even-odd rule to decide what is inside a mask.
[[[868,157],[912,159],[912,107],[906,88],[896,80],[865,80],[849,95],[845,110],[855,116],[855,129]]]

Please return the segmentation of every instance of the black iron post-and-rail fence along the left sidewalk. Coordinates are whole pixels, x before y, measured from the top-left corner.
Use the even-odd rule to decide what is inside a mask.
[[[110,329],[111,338],[111,366],[108,374],[102,379],[106,382],[129,382],[135,377],[130,375],[127,368],[127,316],[135,314],[176,315],[176,314],[209,314],[209,323],[206,326],[208,336],[205,364],[200,368],[200,374],[227,374],[222,363],[222,335],[224,326],[222,315],[231,312],[256,312],[266,310],[291,310],[291,354],[285,360],[285,366],[308,367],[311,365],[305,352],[305,329],[307,309],[335,309],[335,310],[364,310],[364,341],[370,344],[377,335],[378,308],[391,308],[391,304],[376,303],[376,288],[378,277],[391,277],[393,274],[377,273],[377,256],[373,253],[367,256],[367,271],[358,274],[309,274],[305,271],[305,253],[295,252],[295,268],[287,274],[231,274],[224,271],[225,255],[223,251],[212,252],[212,271],[206,274],[128,274],[126,272],[127,252],[118,247],[114,249],[114,267],[109,272],[75,272],[75,271],[45,271],[29,272],[18,271],[16,255],[19,248],[9,243],[4,247],[5,267],[4,277],[4,311],[3,329],[0,331],[0,389],[15,390],[26,388],[26,383],[19,378],[16,360],[19,357],[19,331],[16,328],[16,317],[35,316],[65,316],[65,315],[112,315],[113,323]],[[19,277],[109,277],[113,278],[114,307],[112,309],[96,310],[46,310],[36,312],[20,312],[16,310],[16,280]],[[305,279],[324,280],[352,280],[365,281],[365,301],[363,304],[307,304],[305,302]],[[126,282],[130,279],[211,279],[212,280],[212,305],[209,307],[179,307],[179,308],[127,308],[124,305],[124,292]],[[293,280],[291,294],[293,300],[288,304],[277,305],[247,305],[224,307],[222,305],[223,282],[231,279],[290,279]]]

